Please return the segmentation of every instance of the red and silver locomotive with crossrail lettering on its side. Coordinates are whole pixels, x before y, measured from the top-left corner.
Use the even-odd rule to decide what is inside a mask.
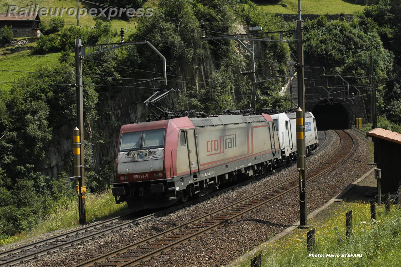
[[[127,124],[117,144],[113,195],[129,207],[170,206],[279,162],[277,130],[266,114]]]

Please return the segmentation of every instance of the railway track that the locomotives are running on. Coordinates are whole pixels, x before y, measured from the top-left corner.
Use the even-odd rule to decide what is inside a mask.
[[[324,143],[327,140],[326,131],[324,131],[324,136],[325,136],[324,142],[312,153],[316,153],[319,149],[321,149],[323,147]],[[27,245],[22,245],[19,247],[15,247],[13,249],[8,249],[6,251],[2,251],[2,252],[0,252],[0,266],[12,266],[12,265],[15,265],[18,263],[24,263],[30,259],[34,259],[41,255],[45,255],[47,253],[57,251],[61,248],[69,247],[69,246],[71,246],[73,244],[77,244],[77,243],[82,243],[89,239],[93,239],[95,237],[99,237],[101,235],[111,233],[111,231],[116,231],[118,229],[130,227],[131,225],[134,225],[136,223],[141,223],[145,220],[149,220],[154,217],[168,214],[175,210],[179,210],[181,208],[185,208],[187,206],[202,202],[202,201],[206,200],[207,198],[211,198],[213,196],[223,194],[224,192],[233,190],[239,186],[245,186],[255,180],[261,179],[265,176],[268,176],[269,174],[271,174],[273,172],[282,170],[283,168],[287,168],[287,167],[288,167],[288,165],[282,166],[276,170],[273,170],[272,172],[262,174],[253,179],[246,180],[244,182],[235,184],[228,188],[224,188],[218,192],[213,192],[211,194],[208,194],[207,196],[203,196],[201,198],[194,199],[185,204],[176,205],[171,208],[167,208],[167,209],[160,210],[157,212],[154,212],[154,211],[150,212],[148,210],[133,211],[128,214],[123,214],[121,216],[103,220],[98,223],[94,223],[92,225],[87,225],[85,227],[81,227],[79,229],[75,229],[75,230],[72,230],[72,231],[69,231],[69,232],[66,232],[63,234],[55,235],[55,236],[49,237],[47,239],[38,240],[38,241],[35,241],[34,243],[30,243]],[[133,214],[135,212],[140,212],[140,215],[138,216],[138,214],[136,214],[136,216],[134,217]]]

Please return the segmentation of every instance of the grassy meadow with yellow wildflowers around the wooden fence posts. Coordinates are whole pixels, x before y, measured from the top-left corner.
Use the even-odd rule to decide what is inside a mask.
[[[377,206],[377,221],[370,221],[369,204],[345,203],[327,218],[312,220],[316,231],[314,251],[306,251],[306,233],[296,230],[288,237],[269,244],[262,252],[262,266],[401,266],[401,210],[391,207],[387,214]],[[353,234],[345,238],[345,212],[352,210]],[[337,227],[342,240],[334,227]],[[308,257],[309,253],[324,257]],[[326,257],[326,254],[340,257]],[[344,253],[363,253],[362,257],[341,257]],[[249,261],[241,267],[249,266]]]

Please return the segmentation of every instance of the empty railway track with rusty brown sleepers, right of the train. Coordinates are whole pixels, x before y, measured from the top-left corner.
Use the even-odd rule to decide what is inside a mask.
[[[319,177],[324,172],[332,169],[342,160],[348,157],[354,148],[354,140],[345,131],[336,131],[340,137],[340,145],[337,150],[327,156],[324,160],[310,167],[306,174],[309,177],[306,181]],[[298,189],[298,175],[293,176],[275,186],[267,188],[259,193],[244,198],[238,202],[230,204],[219,210],[215,210],[209,214],[191,220],[183,225],[179,225],[147,237],[146,239],[137,241],[120,249],[111,251],[89,261],[85,261],[75,267],[88,266],[135,266],[168,251],[174,247],[186,243],[190,239],[203,235],[224,223],[238,219],[280,196],[288,194]]]

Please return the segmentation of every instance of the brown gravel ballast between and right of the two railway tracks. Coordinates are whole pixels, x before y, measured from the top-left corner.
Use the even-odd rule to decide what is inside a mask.
[[[316,155],[308,157],[307,164],[318,162],[338,146],[339,140],[334,131],[328,131],[327,137],[324,148]],[[369,148],[366,142],[359,142],[358,138],[355,140],[356,148],[348,160],[325,177],[307,184],[308,213],[324,204],[369,169],[366,164]],[[199,204],[16,266],[72,266],[227,206],[296,174],[296,164],[293,164],[290,168]],[[180,245],[140,266],[225,265],[292,225],[299,220],[298,214],[298,192],[294,191],[256,212]]]

